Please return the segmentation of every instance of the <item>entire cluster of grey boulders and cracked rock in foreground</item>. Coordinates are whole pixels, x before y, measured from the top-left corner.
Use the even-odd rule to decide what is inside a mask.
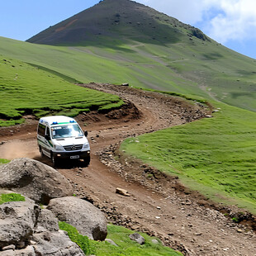
[[[73,194],[73,188],[54,168],[31,159],[0,165],[0,195],[12,192],[26,197],[25,201],[0,205],[0,256],[85,255],[65,231],[59,230],[59,220],[90,239],[107,236],[102,211],[88,201],[66,197]],[[48,209],[39,206],[49,201]]]

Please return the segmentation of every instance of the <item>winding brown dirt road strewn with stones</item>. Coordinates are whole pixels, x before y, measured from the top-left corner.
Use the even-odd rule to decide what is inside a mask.
[[[116,145],[126,137],[195,121],[211,114],[209,109],[154,92],[103,84],[84,86],[117,94],[126,106],[78,116],[89,132],[91,164],[58,168],[78,197],[92,201],[111,222],[156,235],[184,255],[256,255],[256,236],[249,227],[233,223],[215,210],[217,206],[178,183],[178,178],[167,177],[118,151],[120,159],[116,160]],[[36,146],[36,121],[26,116],[26,123],[0,129],[1,158],[29,157],[50,164],[40,158]],[[130,197],[117,194],[116,187],[125,189]]]

